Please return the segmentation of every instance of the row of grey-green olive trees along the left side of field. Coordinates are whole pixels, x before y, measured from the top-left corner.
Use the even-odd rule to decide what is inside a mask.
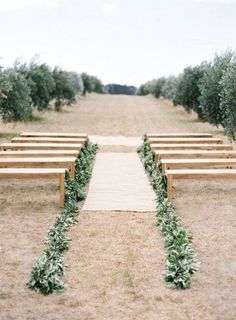
[[[12,68],[0,67],[0,116],[5,122],[29,121],[34,110],[43,111],[52,101],[60,111],[64,103],[75,102],[77,93],[102,88],[99,79],[86,73],[50,68],[35,59],[29,64],[16,62]]]

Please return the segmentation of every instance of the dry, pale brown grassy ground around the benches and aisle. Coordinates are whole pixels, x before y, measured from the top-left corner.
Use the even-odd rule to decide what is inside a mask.
[[[1,125],[0,141],[21,131],[138,137],[145,132],[222,131],[152,97],[90,95],[31,124]],[[225,138],[224,138],[225,139]],[[226,139],[225,139],[226,140]],[[108,152],[133,147],[103,146]],[[236,318],[236,183],[175,183],[182,224],[201,262],[192,288],[166,287],[155,213],[83,211],[71,229],[62,294],[26,287],[43,239],[59,213],[57,183],[0,182],[0,319],[233,320]],[[108,199],[109,201],[109,199]]]

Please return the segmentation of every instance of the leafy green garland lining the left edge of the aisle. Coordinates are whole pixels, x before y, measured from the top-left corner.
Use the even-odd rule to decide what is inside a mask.
[[[98,146],[86,141],[81,149],[79,158],[76,159],[75,179],[66,174],[65,206],[56,218],[54,226],[49,229],[45,243],[47,248],[33,265],[28,287],[42,294],[63,291],[64,285],[60,278],[65,272],[63,252],[69,249],[70,239],[67,232],[72,224],[77,222],[81,202],[86,196],[86,186],[90,181],[93,160]]]

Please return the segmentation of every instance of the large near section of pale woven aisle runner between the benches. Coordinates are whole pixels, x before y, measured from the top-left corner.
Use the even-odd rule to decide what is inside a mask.
[[[98,153],[83,210],[155,211],[155,193],[136,153]]]

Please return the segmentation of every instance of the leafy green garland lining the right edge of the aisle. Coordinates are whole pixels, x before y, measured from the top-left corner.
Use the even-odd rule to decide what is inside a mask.
[[[191,236],[181,226],[174,204],[167,199],[166,177],[161,172],[161,163],[156,163],[146,137],[138,153],[156,193],[157,226],[165,238],[167,250],[165,280],[172,288],[190,288],[191,275],[198,270]]]

